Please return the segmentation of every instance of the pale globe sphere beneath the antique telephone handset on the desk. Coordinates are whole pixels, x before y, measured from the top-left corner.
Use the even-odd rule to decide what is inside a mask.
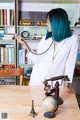
[[[45,97],[42,105],[46,112],[55,112],[57,110],[57,101],[52,96]]]

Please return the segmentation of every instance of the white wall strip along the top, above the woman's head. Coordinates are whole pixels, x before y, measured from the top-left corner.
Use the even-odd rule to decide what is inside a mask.
[[[21,3],[20,8],[23,11],[49,11],[53,8],[74,8],[76,4],[51,4],[51,3]]]

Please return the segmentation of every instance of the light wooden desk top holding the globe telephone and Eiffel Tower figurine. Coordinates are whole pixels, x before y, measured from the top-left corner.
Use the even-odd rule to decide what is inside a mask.
[[[60,88],[60,96],[64,103],[59,106],[54,120],[80,120],[75,94],[69,94],[64,88]],[[0,120],[1,113],[7,113],[6,120],[48,120],[43,116],[45,112],[42,100],[45,97],[42,87],[28,86],[0,86]],[[34,100],[35,118],[28,116],[31,112],[31,103]]]

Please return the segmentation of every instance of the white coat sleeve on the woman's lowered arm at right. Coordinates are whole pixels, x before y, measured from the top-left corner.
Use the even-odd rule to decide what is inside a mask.
[[[72,83],[74,68],[77,60],[77,53],[78,53],[78,39],[74,40],[72,43],[72,47],[67,58],[66,66],[65,66],[65,75],[68,75],[70,81]]]

